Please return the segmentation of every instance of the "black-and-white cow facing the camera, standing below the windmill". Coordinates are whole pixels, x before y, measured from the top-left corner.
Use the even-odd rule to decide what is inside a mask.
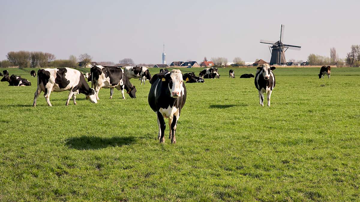
[[[271,92],[275,87],[275,76],[273,74],[274,66],[269,64],[259,66],[255,76],[255,87],[259,91],[260,105],[264,106],[264,93],[267,94],[267,106],[270,107]]]

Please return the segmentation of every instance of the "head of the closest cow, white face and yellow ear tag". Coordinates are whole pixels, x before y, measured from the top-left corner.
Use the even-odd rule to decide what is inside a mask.
[[[173,69],[166,75],[159,75],[159,78],[168,85],[171,97],[180,97],[181,93],[184,95],[183,74],[179,69]]]

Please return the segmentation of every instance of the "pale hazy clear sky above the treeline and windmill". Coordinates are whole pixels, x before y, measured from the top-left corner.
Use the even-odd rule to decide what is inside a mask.
[[[336,47],[345,58],[360,44],[360,1],[0,1],[0,59],[9,51],[44,51],[57,59],[88,53],[94,61],[161,64],[202,61],[204,56],[232,61],[269,62],[259,40],[278,41],[285,24],[287,60],[306,61],[311,53],[329,56]]]

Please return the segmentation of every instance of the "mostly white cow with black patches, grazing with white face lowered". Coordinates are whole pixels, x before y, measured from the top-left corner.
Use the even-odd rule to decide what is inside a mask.
[[[90,88],[85,81],[84,75],[76,69],[71,68],[45,68],[37,71],[37,89],[34,94],[34,104],[36,106],[37,97],[44,91],[46,102],[51,107],[50,93],[70,91],[66,106],[72,97],[76,105],[76,95],[83,93],[92,103],[97,103],[94,88]]]

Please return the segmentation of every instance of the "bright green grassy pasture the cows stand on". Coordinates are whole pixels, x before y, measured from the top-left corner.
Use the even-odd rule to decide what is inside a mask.
[[[157,140],[148,82],[32,107],[36,78],[9,69],[32,86],[0,82],[0,201],[358,201],[360,69],[277,68],[271,107],[239,78],[255,68],[232,69],[186,84],[176,144]]]

